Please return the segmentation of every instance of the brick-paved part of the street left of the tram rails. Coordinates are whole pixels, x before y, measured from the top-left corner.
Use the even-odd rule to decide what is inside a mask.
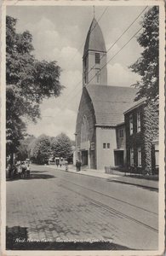
[[[105,240],[130,248],[157,247],[152,230],[146,237],[145,227],[95,205],[56,175],[7,182],[7,226],[26,228],[31,241]]]

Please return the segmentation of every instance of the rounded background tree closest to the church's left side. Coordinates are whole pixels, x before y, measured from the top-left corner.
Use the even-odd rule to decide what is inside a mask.
[[[65,133],[60,133],[51,142],[51,148],[54,157],[66,158],[72,154],[72,143],[69,137]]]

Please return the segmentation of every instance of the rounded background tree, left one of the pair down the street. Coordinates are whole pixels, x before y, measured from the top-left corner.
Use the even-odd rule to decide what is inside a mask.
[[[49,136],[43,134],[31,143],[30,157],[37,164],[44,164],[47,162],[51,152]]]

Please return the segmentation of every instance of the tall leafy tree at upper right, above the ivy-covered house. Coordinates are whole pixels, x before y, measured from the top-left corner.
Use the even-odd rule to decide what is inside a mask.
[[[146,97],[147,101],[157,102],[159,96],[159,10],[153,6],[141,21],[143,32],[137,38],[144,48],[140,58],[130,67],[139,73],[141,80],[135,86],[139,88],[135,101]]]

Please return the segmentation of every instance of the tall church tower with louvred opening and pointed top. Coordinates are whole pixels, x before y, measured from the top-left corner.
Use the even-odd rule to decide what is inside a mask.
[[[107,85],[106,45],[95,19],[89,27],[83,51],[83,86]]]

